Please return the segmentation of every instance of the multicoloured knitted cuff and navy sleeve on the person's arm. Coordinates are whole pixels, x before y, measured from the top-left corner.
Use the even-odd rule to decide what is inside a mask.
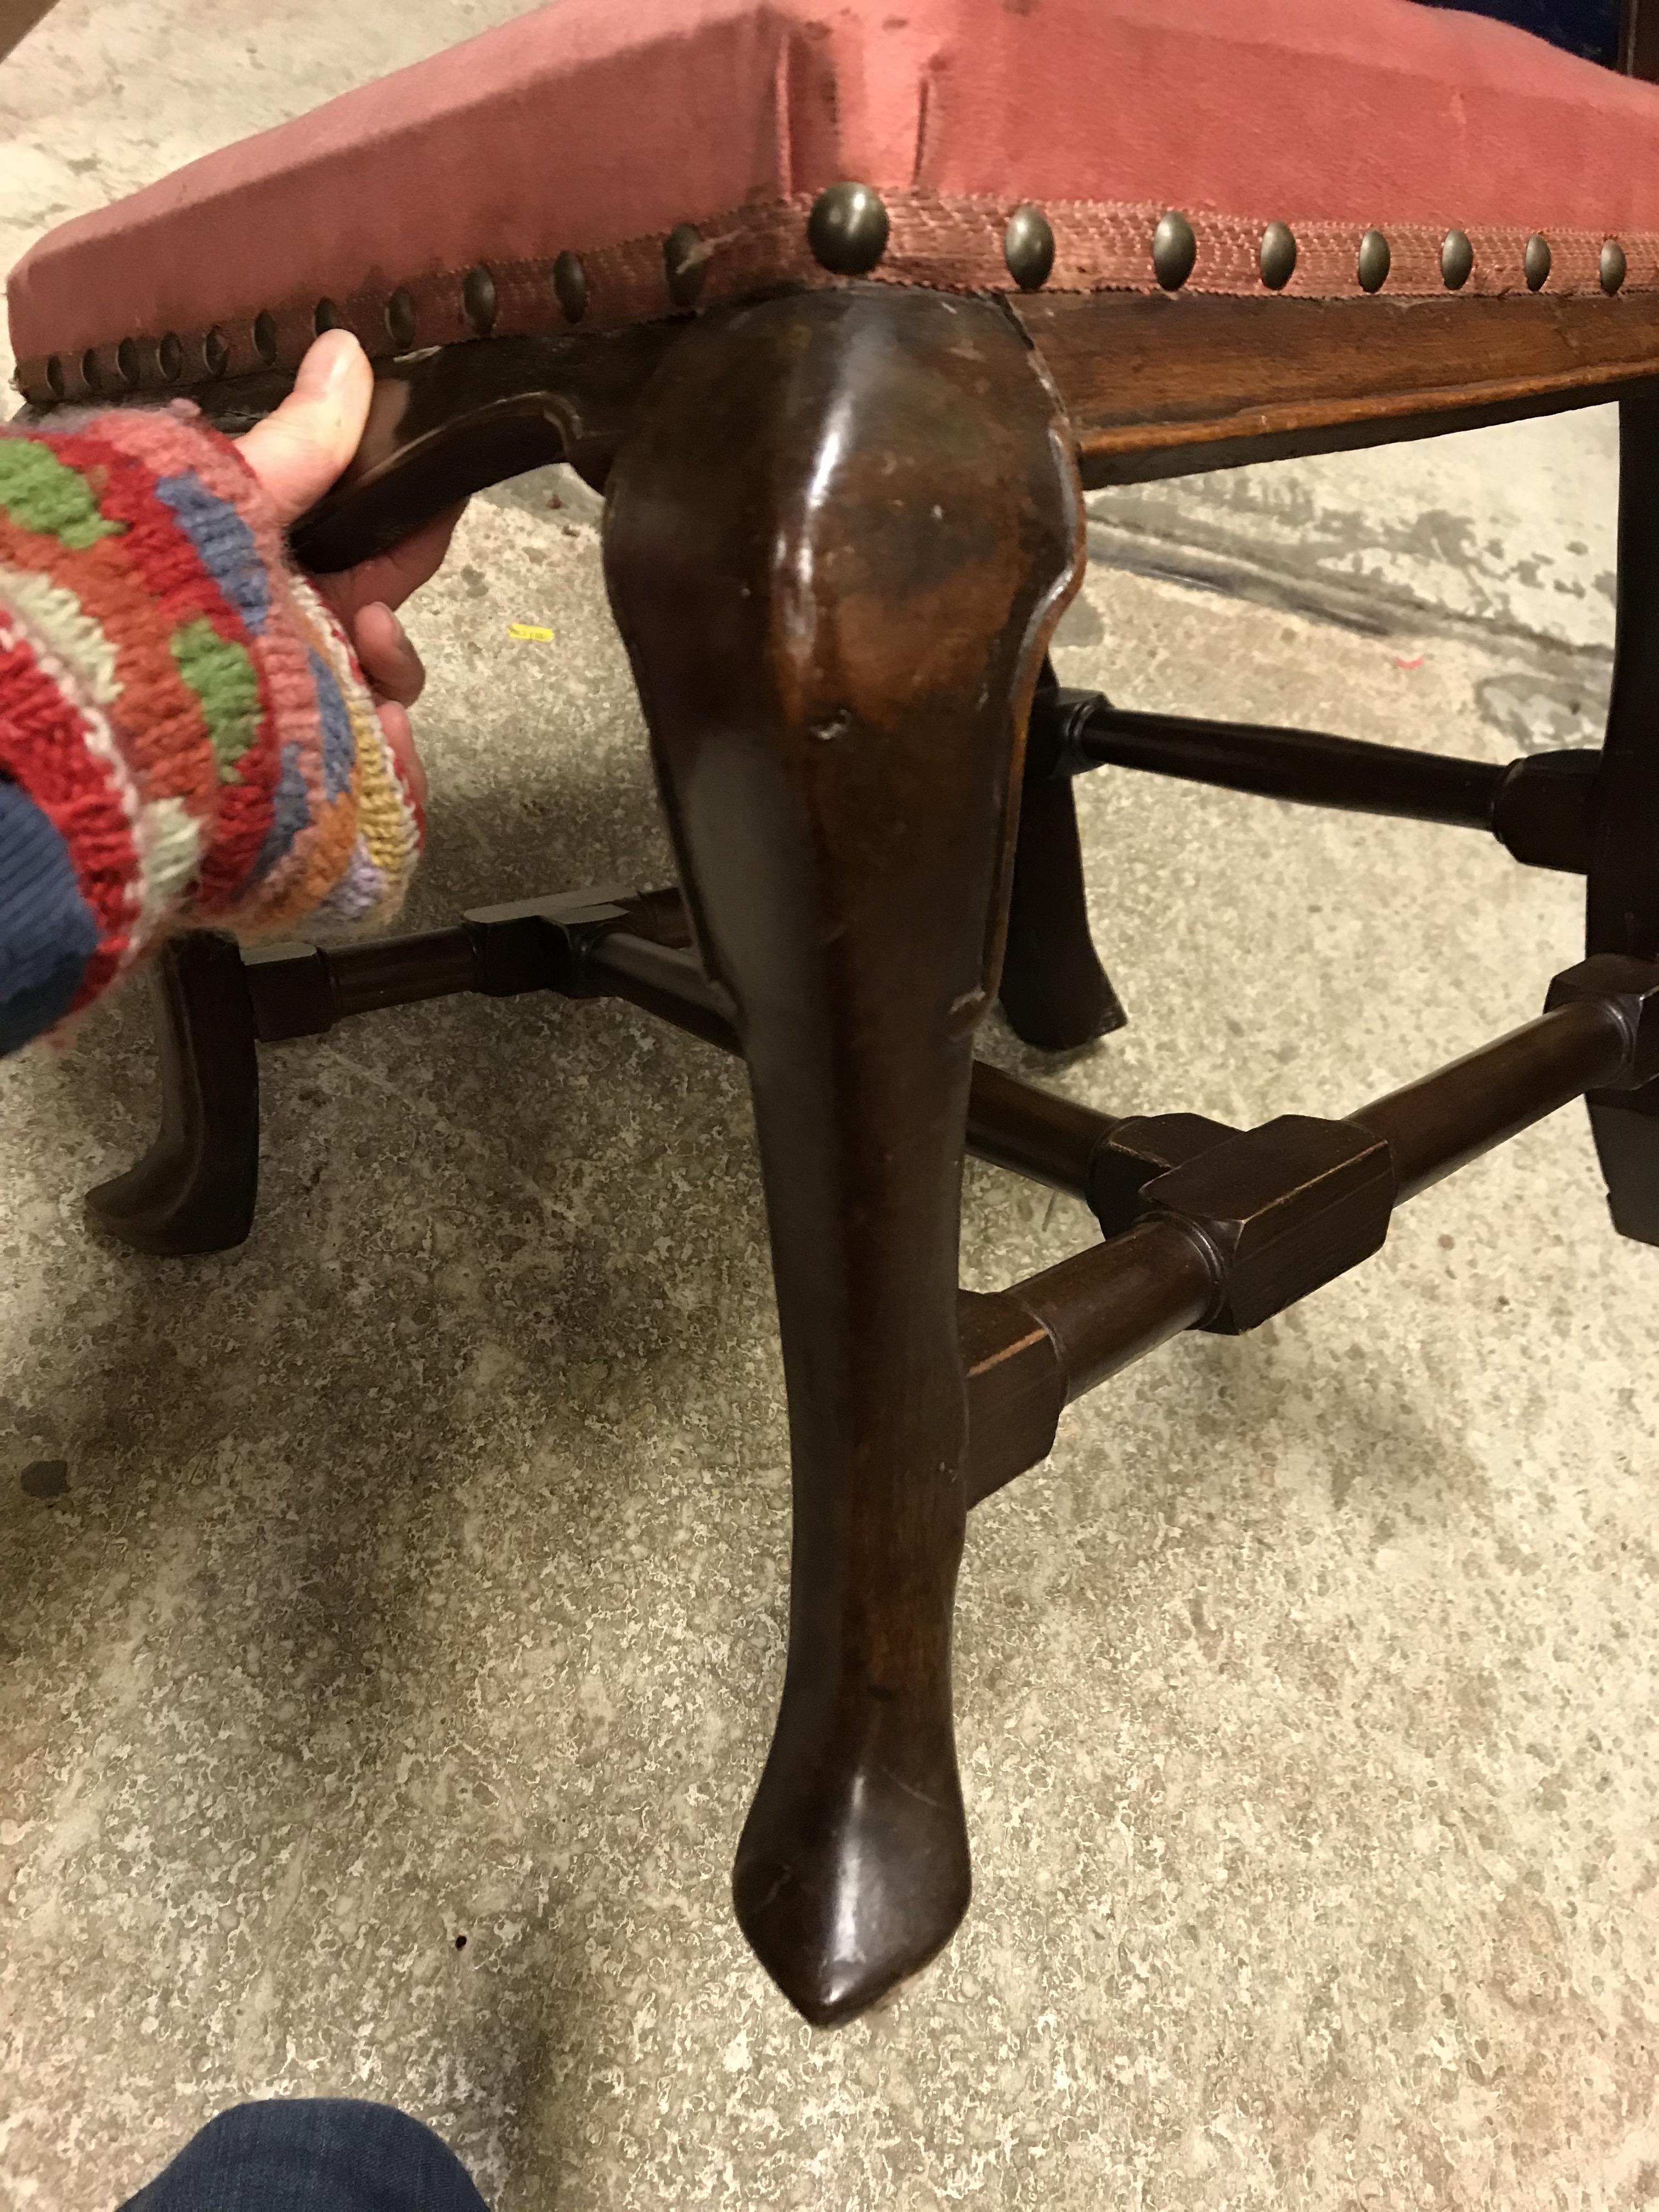
[[[228,438],[186,403],[0,427],[0,1053],[186,922],[387,920],[422,827]]]

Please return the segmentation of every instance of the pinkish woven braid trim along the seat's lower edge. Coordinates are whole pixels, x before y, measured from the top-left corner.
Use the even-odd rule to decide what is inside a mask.
[[[942,292],[1015,292],[1002,252],[1002,234],[1015,201],[945,199],[933,192],[894,190],[883,195],[889,243],[876,283],[925,285]],[[810,195],[739,208],[699,223],[701,290],[695,305],[741,301],[776,285],[834,285],[807,246]],[[1155,206],[1110,201],[1048,201],[1042,210],[1055,234],[1055,265],[1046,292],[1155,292],[1152,232],[1166,212]],[[1265,219],[1206,215],[1190,210],[1197,263],[1183,290],[1232,296],[1263,294],[1261,234]],[[1292,221],[1296,272],[1285,299],[1363,299],[1358,246],[1365,223]],[[1449,294],[1440,272],[1447,226],[1378,223],[1389,241],[1391,265],[1380,299],[1493,299],[1524,294],[1526,230],[1473,228],[1473,272]],[[1551,272],[1542,294],[1604,296],[1604,234],[1553,230],[1546,234]],[[365,274],[361,290],[345,299],[243,299],[228,301],[219,321],[181,332],[113,332],[84,356],[38,354],[18,369],[24,396],[51,407],[60,398],[117,398],[124,392],[164,392],[252,376],[261,369],[294,369],[323,327],[354,330],[372,356],[451,345],[476,336],[566,332],[571,321],[553,292],[553,259],[564,241],[551,241],[546,259],[491,261],[480,239],[480,261],[495,290],[495,312],[480,327],[462,299],[467,270],[431,270],[392,285],[383,272]],[[1617,239],[1626,257],[1626,292],[1659,290],[1659,232]],[[580,252],[586,276],[582,330],[615,330],[677,312],[664,265],[666,234],[628,239]],[[389,305],[403,310],[398,332],[389,330]],[[261,349],[263,336],[263,349]]]

